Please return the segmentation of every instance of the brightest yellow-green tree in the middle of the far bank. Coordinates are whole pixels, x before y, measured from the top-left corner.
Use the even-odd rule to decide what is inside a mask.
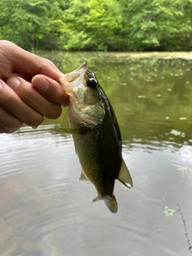
[[[62,46],[66,50],[107,50],[115,44],[119,19],[114,0],[70,0],[62,14]]]

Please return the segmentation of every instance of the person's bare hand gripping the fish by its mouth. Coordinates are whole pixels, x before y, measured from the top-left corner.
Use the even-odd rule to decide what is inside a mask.
[[[44,117],[58,118],[62,106],[68,106],[56,82],[61,77],[53,62],[0,40],[0,134],[13,133],[24,123],[36,128]]]

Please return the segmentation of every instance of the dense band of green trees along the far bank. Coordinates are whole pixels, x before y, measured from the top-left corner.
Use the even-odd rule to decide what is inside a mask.
[[[1,0],[0,38],[26,50],[191,50],[192,0]]]

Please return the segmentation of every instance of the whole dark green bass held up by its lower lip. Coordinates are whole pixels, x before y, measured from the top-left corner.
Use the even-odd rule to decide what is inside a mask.
[[[74,147],[82,166],[81,181],[90,181],[97,190],[93,202],[103,200],[112,213],[118,212],[114,182],[133,187],[122,158],[122,135],[113,107],[86,62],[64,74],[58,83],[69,95],[68,120]]]

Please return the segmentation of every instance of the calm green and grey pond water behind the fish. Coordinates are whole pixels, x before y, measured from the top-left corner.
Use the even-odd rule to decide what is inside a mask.
[[[0,134],[1,256],[192,254],[192,60],[97,53],[39,53],[63,72],[87,61],[110,98],[134,180],[116,182],[118,214],[92,200],[58,120]],[[192,57],[191,57],[192,59]]]

